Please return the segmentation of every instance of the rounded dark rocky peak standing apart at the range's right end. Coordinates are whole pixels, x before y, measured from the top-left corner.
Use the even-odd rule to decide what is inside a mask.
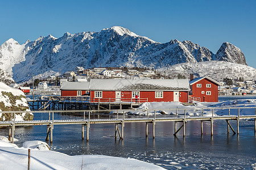
[[[241,49],[229,42],[223,42],[216,53],[216,60],[247,65],[245,55],[242,53]]]

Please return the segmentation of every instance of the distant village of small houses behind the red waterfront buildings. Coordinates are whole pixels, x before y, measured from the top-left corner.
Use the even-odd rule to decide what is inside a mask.
[[[45,79],[35,78],[31,82],[23,84],[10,84],[11,87],[19,88],[25,94],[32,94],[34,82],[34,94],[36,95],[60,95],[60,85],[63,82],[88,82],[90,79],[160,79],[162,78],[155,70],[143,68],[127,69],[126,67],[106,67],[84,69],[77,66],[73,71],[66,71],[60,76],[49,76]],[[184,75],[177,75],[177,79],[186,79]],[[164,78],[162,78],[164,79]],[[218,95],[255,95],[256,83],[254,81],[236,81],[226,78],[218,82]]]

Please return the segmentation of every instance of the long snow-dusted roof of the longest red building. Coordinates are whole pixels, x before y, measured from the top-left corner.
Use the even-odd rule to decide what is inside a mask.
[[[91,79],[90,90],[188,91],[188,79]]]

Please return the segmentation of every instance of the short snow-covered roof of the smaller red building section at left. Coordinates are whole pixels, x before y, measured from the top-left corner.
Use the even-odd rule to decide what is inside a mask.
[[[60,90],[88,90],[89,82],[63,82]]]

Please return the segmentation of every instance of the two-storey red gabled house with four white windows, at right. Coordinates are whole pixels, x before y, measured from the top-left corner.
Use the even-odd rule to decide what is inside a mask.
[[[192,76],[193,77],[193,76]],[[192,97],[199,99],[201,102],[217,102],[218,101],[218,83],[216,80],[208,76],[191,78],[190,90]]]

